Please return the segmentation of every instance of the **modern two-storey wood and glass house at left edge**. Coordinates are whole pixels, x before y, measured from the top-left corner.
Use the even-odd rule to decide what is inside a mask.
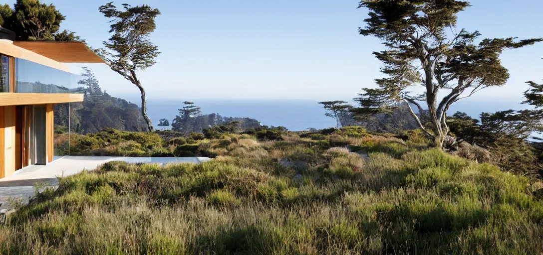
[[[53,161],[55,104],[82,102],[66,63],[104,63],[82,42],[15,41],[0,27],[0,178]]]

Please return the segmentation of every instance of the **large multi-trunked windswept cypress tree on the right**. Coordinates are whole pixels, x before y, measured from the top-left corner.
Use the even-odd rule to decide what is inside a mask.
[[[385,64],[382,73],[388,77],[376,80],[377,89],[364,88],[359,94],[359,113],[389,112],[396,102],[414,104],[422,112],[419,102],[425,102],[432,132],[413,110],[411,113],[420,128],[433,136],[435,146],[443,147],[449,133],[446,113],[451,104],[507,82],[508,70],[500,62],[504,49],[542,41],[515,42],[510,37],[475,43],[481,35],[478,31],[454,32],[458,12],[468,6],[469,2],[457,0],[362,0],[359,8],[368,8],[369,18],[359,32],[383,40],[387,49],[374,54]],[[415,85],[422,85],[425,92],[413,95],[408,88]],[[439,99],[441,90],[450,92]]]

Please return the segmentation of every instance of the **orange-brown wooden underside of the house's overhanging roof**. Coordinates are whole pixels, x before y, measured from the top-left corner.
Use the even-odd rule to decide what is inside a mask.
[[[61,63],[105,63],[82,42],[15,41],[13,44]]]

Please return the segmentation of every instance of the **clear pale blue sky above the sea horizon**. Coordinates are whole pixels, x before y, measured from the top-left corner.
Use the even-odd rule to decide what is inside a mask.
[[[42,2],[54,3],[67,16],[61,28],[76,31],[93,47],[109,38],[108,19],[98,12],[109,0]],[[367,10],[356,9],[357,0],[126,2],[162,12],[152,35],[162,54],[153,68],[140,72],[151,99],[349,100],[382,77],[381,63],[371,54],[382,49],[380,41],[357,32],[367,17]],[[483,37],[543,37],[541,0],[471,2],[459,15],[459,28],[479,30]],[[543,43],[506,51],[508,84],[471,100],[521,101],[524,82],[543,79],[541,57]],[[138,94],[105,65],[87,66],[108,93]]]

